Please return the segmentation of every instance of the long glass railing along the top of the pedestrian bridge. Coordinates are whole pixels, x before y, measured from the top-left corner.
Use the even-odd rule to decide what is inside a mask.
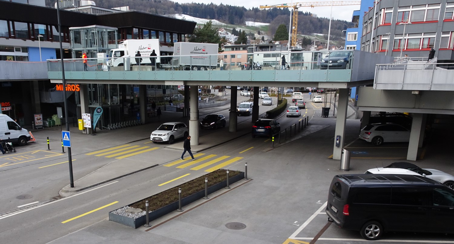
[[[64,59],[65,71],[208,71],[351,69],[352,50],[255,52],[211,55],[141,56]],[[285,63],[282,63],[284,57]],[[160,61],[157,63],[156,61]],[[60,59],[49,59],[48,71],[61,71]]]

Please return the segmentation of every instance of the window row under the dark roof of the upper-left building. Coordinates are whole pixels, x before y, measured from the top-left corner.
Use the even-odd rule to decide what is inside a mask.
[[[62,27],[62,34],[58,32],[58,26],[49,24],[33,24],[19,21],[0,20],[0,37],[12,39],[29,39],[41,41],[69,42],[69,28]]]

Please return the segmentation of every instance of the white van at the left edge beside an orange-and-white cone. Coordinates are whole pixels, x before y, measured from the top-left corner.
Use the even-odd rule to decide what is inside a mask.
[[[0,139],[24,146],[30,141],[30,133],[8,115],[0,114]]]

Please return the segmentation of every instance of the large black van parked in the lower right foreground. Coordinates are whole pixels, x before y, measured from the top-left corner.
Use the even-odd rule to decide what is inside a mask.
[[[424,176],[334,176],[328,221],[359,230],[367,240],[385,231],[454,233],[454,191]]]

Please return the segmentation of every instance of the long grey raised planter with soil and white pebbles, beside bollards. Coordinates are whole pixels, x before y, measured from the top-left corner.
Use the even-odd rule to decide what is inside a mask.
[[[148,201],[149,221],[167,215],[178,210],[178,189],[181,188],[181,206],[188,205],[205,196],[205,178],[207,178],[207,194],[220,190],[227,186],[227,170],[219,169],[192,181],[185,182],[171,189],[160,192],[128,204],[117,210],[109,212],[109,220],[138,228],[146,224],[145,201]],[[228,183],[234,183],[244,179],[244,172],[229,171]]]

